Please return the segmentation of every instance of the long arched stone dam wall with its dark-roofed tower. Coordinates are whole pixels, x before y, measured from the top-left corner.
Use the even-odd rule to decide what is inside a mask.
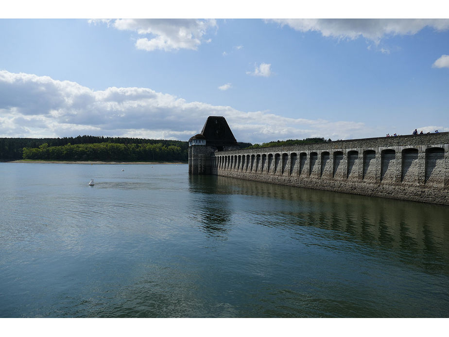
[[[209,116],[189,140],[189,174],[449,205],[449,132],[240,149]]]

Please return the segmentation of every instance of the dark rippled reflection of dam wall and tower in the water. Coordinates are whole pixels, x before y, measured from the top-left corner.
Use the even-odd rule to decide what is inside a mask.
[[[190,176],[190,191],[207,194],[197,204],[204,231],[226,239],[233,218],[261,226],[312,226],[334,231],[335,240],[405,256],[408,263],[448,269],[449,219],[446,206],[301,189],[229,177]],[[251,196],[240,205],[230,195]],[[240,199],[239,199],[240,200]],[[442,263],[445,261],[445,263]],[[445,266],[446,265],[446,266]],[[449,269],[445,270],[449,273]]]

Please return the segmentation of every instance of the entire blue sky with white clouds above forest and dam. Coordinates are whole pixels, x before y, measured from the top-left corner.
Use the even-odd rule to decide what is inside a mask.
[[[0,45],[0,137],[449,131],[449,19],[1,18]]]

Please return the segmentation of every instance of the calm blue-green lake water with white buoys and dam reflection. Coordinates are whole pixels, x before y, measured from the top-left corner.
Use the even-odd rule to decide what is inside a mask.
[[[3,318],[449,317],[446,206],[187,165],[0,163],[0,181]]]

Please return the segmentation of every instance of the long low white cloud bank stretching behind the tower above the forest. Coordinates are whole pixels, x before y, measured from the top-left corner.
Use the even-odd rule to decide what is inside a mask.
[[[0,137],[87,134],[187,140],[201,130],[208,116],[224,116],[242,142],[366,136],[363,123],[245,112],[231,106],[187,102],[148,88],[95,91],[48,76],[0,71]]]

